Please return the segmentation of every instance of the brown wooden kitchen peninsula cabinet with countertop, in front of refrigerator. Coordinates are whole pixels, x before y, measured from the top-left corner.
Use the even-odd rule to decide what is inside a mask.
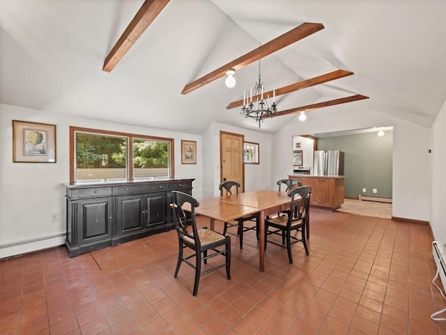
[[[344,203],[344,176],[289,175],[289,178],[312,187],[310,205],[336,210]]]

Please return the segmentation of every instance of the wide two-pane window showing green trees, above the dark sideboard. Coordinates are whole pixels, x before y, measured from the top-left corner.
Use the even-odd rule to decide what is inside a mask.
[[[174,176],[174,139],[70,127],[70,182]]]

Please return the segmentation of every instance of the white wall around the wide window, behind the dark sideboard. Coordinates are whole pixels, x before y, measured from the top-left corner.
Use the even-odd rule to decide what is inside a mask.
[[[56,163],[13,163],[13,122],[24,120],[56,125]],[[175,176],[195,178],[194,196],[203,193],[201,135],[107,123],[0,104],[0,258],[64,243],[66,220],[62,182],[70,178],[69,127],[89,127],[148,134],[175,140]],[[181,164],[181,140],[197,141],[197,164]],[[51,215],[59,214],[52,223]],[[62,236],[61,236],[62,235]],[[52,238],[49,238],[52,237]],[[45,238],[47,238],[45,240]],[[30,242],[31,240],[39,240]],[[21,242],[26,242],[21,244]],[[10,245],[15,244],[17,245]]]

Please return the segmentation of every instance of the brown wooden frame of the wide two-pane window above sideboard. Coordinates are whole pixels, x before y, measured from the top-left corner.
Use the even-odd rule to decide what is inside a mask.
[[[75,182],[89,182],[89,180],[75,180],[75,169],[76,169],[76,132],[84,132],[89,134],[98,134],[114,137],[127,137],[128,138],[128,155],[127,155],[127,165],[128,165],[128,176],[123,180],[144,180],[147,178],[134,178],[134,167],[133,167],[133,140],[134,139],[148,139],[154,141],[165,141],[169,143],[169,177],[174,178],[175,176],[175,140],[168,137],[155,137],[143,134],[132,134],[128,132],[115,132],[112,130],[100,130],[85,127],[75,127],[70,126],[70,184]],[[95,182],[97,180],[91,180]]]

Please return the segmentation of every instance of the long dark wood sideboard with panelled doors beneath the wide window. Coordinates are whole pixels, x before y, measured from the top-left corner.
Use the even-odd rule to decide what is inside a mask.
[[[192,195],[194,179],[66,186],[66,249],[74,257],[174,228],[171,192]]]

